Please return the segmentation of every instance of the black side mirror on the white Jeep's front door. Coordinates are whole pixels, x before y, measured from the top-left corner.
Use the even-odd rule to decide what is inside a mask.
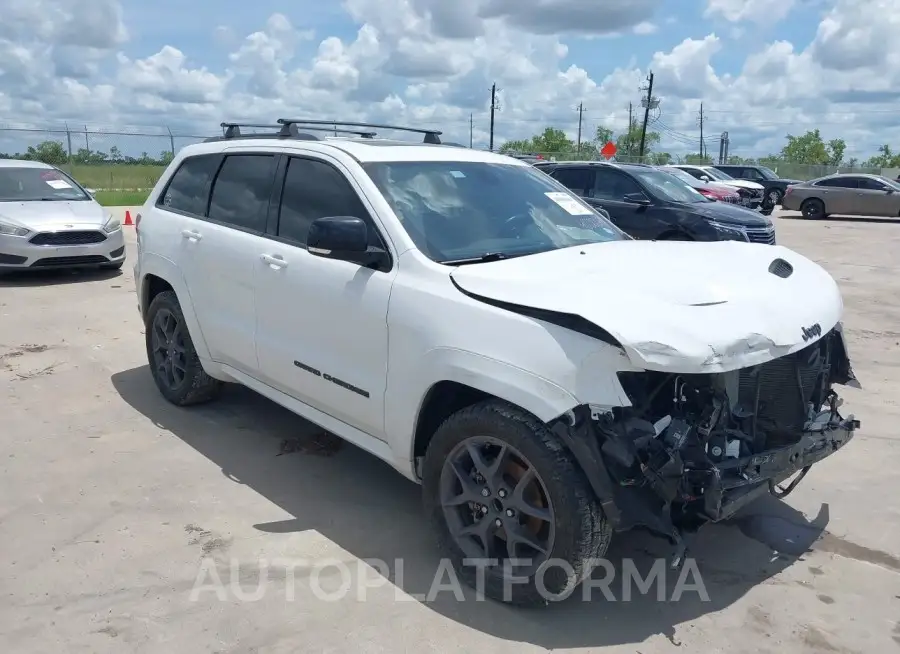
[[[309,226],[306,249],[317,257],[350,261],[375,270],[389,270],[391,266],[387,252],[369,247],[369,228],[355,216],[314,220]]]

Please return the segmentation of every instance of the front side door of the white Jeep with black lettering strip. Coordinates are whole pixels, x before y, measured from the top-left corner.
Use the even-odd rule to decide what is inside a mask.
[[[388,272],[306,249],[313,220],[356,216],[384,247],[371,214],[337,162],[290,157],[271,238],[255,252],[260,380],[367,434],[384,438]]]

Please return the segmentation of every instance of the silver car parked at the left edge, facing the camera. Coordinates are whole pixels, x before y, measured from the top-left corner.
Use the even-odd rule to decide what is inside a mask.
[[[121,223],[78,182],[39,161],[0,159],[0,271],[123,263]]]

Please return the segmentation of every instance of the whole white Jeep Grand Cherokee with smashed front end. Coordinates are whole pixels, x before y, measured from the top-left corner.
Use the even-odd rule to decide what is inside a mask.
[[[156,384],[177,405],[244,384],[421,482],[488,596],[569,593],[636,526],[677,563],[858,428],[841,296],[805,257],[633,240],[439,132],[279,123],[186,147],[140,213]]]

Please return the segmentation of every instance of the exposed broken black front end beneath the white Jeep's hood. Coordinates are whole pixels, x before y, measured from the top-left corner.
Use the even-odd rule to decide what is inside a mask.
[[[715,374],[619,373],[632,406],[554,425],[617,530],[682,534],[766,493],[783,497],[853,437],[834,384],[858,385],[838,325],[806,348]],[[799,473],[787,488],[778,485]],[[683,547],[682,547],[683,554]]]

